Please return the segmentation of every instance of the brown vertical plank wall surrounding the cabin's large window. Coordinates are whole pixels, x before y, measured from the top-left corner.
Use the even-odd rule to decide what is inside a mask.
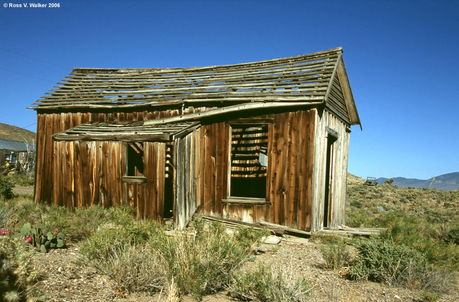
[[[315,109],[270,115],[266,201],[228,197],[231,125],[203,125],[196,134],[196,197],[201,213],[244,222],[265,221],[299,230],[311,226]]]

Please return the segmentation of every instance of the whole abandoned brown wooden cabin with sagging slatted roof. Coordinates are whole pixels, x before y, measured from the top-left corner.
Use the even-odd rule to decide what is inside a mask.
[[[196,67],[74,68],[37,111],[35,201],[130,205],[315,231],[344,224],[351,125],[342,48]]]

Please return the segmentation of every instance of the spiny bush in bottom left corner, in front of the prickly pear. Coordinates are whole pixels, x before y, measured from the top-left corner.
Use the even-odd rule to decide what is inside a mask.
[[[43,277],[32,263],[27,242],[0,236],[0,301],[44,300],[38,281]]]

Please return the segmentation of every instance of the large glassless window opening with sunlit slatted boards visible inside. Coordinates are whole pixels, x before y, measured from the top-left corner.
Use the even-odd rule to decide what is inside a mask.
[[[265,198],[268,125],[233,125],[231,197]]]

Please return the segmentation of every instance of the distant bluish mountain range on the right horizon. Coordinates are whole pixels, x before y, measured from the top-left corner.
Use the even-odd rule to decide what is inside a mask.
[[[392,185],[400,187],[414,187],[414,188],[426,188],[432,178],[429,179],[416,179],[416,178],[404,178],[404,177],[392,177],[394,182]],[[379,177],[376,179],[378,184],[384,184],[384,182],[390,178]],[[436,188],[437,190],[456,190],[459,189],[459,172],[447,173],[435,177],[430,188]]]

